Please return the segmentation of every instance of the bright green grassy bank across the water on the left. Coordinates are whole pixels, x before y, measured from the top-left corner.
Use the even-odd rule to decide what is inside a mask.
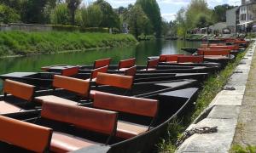
[[[46,54],[86,48],[109,48],[136,44],[132,35],[81,32],[0,32],[0,56]]]

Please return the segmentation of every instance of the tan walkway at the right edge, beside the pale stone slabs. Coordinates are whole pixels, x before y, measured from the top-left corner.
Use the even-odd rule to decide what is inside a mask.
[[[256,145],[256,54],[253,55],[233,144]]]

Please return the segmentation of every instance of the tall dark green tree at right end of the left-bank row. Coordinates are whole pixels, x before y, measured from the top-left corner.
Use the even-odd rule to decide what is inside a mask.
[[[137,0],[136,4],[141,5],[145,14],[147,14],[150,20],[154,32],[157,37],[161,35],[161,15],[160,8],[156,0]]]

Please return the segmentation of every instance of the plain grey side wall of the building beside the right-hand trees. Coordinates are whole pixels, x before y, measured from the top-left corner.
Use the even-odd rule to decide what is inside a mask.
[[[226,11],[226,24],[231,33],[235,33],[239,24],[239,7]]]

